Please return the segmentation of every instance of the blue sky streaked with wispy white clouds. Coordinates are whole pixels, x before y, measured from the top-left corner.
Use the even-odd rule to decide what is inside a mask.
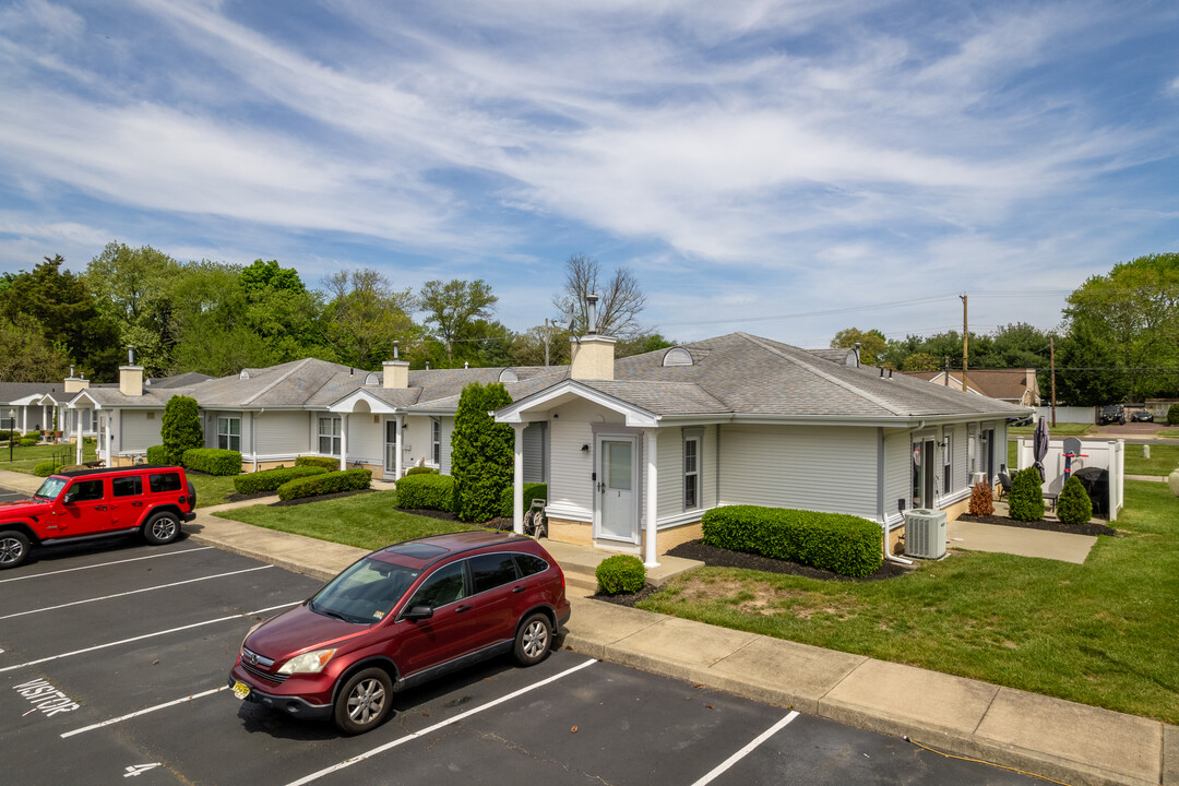
[[[1179,4],[0,6],[0,271],[118,240],[311,286],[564,260],[644,322],[802,346],[1023,321],[1179,250]]]

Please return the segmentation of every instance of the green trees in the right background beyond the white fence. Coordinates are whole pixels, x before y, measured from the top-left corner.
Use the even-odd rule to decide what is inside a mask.
[[[888,339],[880,330],[841,330],[832,348],[861,344],[870,365],[901,371],[962,369],[962,333]],[[969,369],[1035,368],[1040,396],[1052,391],[1055,344],[1056,403],[1094,407],[1179,397],[1179,253],[1157,253],[1092,276],[1068,296],[1061,324],[1026,323],[968,336]]]

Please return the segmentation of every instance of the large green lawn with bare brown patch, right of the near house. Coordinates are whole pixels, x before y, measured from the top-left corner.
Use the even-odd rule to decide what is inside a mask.
[[[700,568],[641,608],[1179,722],[1179,498],[1126,482],[1085,564],[963,551],[878,582]]]

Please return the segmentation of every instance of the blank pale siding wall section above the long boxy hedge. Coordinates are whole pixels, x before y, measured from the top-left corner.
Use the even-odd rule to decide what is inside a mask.
[[[876,450],[875,429],[726,425],[720,503],[876,519]]]

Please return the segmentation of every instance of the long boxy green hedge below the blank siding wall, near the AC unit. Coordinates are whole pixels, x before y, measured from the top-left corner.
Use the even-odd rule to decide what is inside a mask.
[[[700,524],[709,546],[856,579],[876,573],[884,561],[883,530],[859,516],[736,504],[709,510]]]

